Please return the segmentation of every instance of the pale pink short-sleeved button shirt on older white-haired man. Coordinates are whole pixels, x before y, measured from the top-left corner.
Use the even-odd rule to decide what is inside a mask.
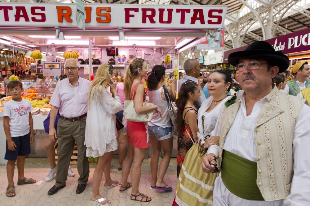
[[[87,94],[91,82],[78,78],[78,84],[73,87],[69,78],[57,83],[50,104],[59,107],[60,116],[66,118],[78,117],[87,112]]]

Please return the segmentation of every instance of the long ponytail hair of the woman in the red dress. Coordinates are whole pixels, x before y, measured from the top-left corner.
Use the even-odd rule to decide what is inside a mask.
[[[130,99],[132,82],[134,81],[134,77],[138,75],[138,69],[142,69],[143,63],[144,59],[135,58],[126,71],[124,82],[124,94],[126,99]]]

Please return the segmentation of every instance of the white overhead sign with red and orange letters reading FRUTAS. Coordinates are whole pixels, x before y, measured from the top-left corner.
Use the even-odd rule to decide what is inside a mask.
[[[76,4],[0,3],[3,26],[76,27]],[[87,27],[199,28],[224,27],[227,6],[85,4]],[[82,10],[81,10],[82,11]]]

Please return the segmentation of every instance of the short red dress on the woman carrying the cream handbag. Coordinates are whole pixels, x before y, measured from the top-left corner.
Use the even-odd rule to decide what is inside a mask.
[[[131,88],[130,99],[132,99],[134,88],[139,82],[135,83]],[[145,93],[147,96],[147,94]],[[143,99],[144,101],[144,99]],[[144,122],[133,122],[127,121],[127,135],[128,142],[131,143],[135,148],[148,148],[148,124]]]

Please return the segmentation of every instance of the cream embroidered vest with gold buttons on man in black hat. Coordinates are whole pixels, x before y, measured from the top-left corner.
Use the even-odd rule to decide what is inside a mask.
[[[257,186],[265,201],[282,200],[290,192],[293,177],[294,128],[303,108],[303,100],[279,92],[274,87],[259,113],[255,124],[257,154]],[[218,167],[221,166],[223,145],[240,102],[224,107],[219,141]]]

